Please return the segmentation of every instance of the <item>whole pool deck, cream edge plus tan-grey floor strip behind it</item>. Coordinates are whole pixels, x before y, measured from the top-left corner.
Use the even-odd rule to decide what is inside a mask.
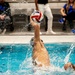
[[[55,28],[56,34],[46,34],[44,30],[41,31],[40,34],[41,39],[43,39],[44,43],[50,42],[75,42],[75,35],[71,31],[63,32],[57,30]],[[29,43],[30,39],[34,36],[34,31],[13,31],[6,32],[4,35],[0,34],[0,43],[16,43],[16,44],[25,44]]]

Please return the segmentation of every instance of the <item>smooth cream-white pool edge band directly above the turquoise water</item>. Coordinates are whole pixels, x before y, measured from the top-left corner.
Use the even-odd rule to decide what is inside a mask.
[[[33,35],[1,35],[0,43],[2,44],[25,44],[29,43]],[[44,43],[53,42],[75,42],[75,35],[41,35]]]

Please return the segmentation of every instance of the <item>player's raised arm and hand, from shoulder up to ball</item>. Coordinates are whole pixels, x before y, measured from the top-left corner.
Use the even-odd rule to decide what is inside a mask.
[[[34,39],[40,41],[40,25],[35,23],[30,17],[30,23],[34,27]]]

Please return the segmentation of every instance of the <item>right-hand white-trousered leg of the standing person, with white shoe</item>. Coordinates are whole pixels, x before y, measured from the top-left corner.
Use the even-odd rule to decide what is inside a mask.
[[[55,32],[53,32],[52,30],[52,24],[53,24],[53,15],[52,15],[52,12],[51,12],[51,9],[49,7],[49,4],[46,4],[44,6],[44,10],[45,10],[45,15],[47,16],[48,18],[48,28],[47,28],[47,33],[48,34],[55,34]]]

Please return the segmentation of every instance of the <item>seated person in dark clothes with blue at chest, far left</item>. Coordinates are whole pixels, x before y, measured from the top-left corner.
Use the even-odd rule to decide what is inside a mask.
[[[8,2],[0,0],[0,32],[4,34],[6,28],[10,25],[10,31],[13,31],[13,26],[11,24],[11,11]]]

